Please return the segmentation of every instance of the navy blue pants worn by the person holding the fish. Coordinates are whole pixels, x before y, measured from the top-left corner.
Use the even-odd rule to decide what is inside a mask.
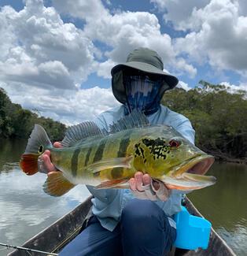
[[[61,250],[60,256],[164,255],[175,242],[175,228],[157,204],[133,199],[124,207],[120,223],[110,232],[91,217],[87,228]]]

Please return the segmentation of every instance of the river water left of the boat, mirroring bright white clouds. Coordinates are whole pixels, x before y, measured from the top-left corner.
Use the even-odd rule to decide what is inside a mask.
[[[19,246],[90,195],[83,185],[60,198],[46,195],[42,191],[46,175],[26,176],[20,171],[25,143],[1,141],[0,152],[0,242]],[[0,248],[0,255],[9,251]]]

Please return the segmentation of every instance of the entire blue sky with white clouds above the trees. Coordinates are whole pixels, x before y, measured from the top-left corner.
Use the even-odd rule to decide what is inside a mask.
[[[65,124],[119,106],[110,71],[156,50],[179,87],[247,91],[245,0],[0,0],[0,87]]]

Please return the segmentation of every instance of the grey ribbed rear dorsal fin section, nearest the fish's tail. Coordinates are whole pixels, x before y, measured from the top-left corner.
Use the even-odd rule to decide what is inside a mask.
[[[96,135],[105,136],[107,132],[94,122],[86,121],[69,127],[61,144],[63,147],[72,147],[79,141]]]

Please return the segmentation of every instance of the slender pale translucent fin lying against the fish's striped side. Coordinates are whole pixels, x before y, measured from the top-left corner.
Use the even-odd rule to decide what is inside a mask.
[[[99,173],[105,169],[112,169],[116,167],[123,167],[130,169],[132,156],[126,158],[109,158],[101,161],[96,161],[94,164],[88,165],[87,170],[91,173]]]

